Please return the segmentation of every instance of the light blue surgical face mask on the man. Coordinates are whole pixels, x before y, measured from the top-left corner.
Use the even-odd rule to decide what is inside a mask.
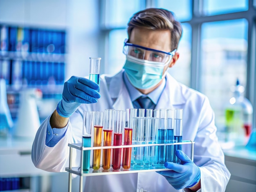
[[[157,85],[165,76],[167,70],[163,74],[164,67],[170,63],[171,58],[163,64],[127,55],[123,68],[125,69],[128,80],[134,87],[138,89],[149,89]]]

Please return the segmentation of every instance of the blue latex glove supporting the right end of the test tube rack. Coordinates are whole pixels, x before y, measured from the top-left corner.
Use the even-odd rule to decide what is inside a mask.
[[[200,180],[200,169],[191,159],[181,150],[175,152],[181,160],[181,164],[165,162],[164,166],[170,171],[159,171],[165,179],[176,189],[193,187]]]

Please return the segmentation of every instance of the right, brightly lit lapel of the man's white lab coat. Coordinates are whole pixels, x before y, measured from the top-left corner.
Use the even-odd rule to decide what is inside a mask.
[[[170,75],[166,74],[166,85],[162,95],[159,98],[156,109],[177,108],[186,103],[182,93],[182,86]]]

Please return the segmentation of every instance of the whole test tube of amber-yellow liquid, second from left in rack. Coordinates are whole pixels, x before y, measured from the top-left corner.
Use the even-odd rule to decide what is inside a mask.
[[[94,116],[94,147],[100,147],[102,141],[103,112],[95,112]],[[99,170],[101,162],[101,150],[93,151],[93,169]]]

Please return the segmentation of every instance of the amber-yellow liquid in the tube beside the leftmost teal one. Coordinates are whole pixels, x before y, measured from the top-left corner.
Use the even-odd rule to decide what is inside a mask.
[[[94,147],[101,147],[102,127],[94,125]],[[93,151],[93,169],[99,170],[101,162],[101,150]]]

